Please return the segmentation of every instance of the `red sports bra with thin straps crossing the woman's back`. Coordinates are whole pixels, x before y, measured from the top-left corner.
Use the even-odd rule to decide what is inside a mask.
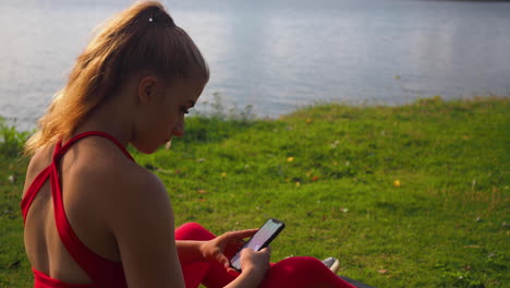
[[[68,221],[65,216],[65,211],[63,207],[62,201],[62,190],[60,188],[59,181],[59,171],[58,164],[65,152],[77,141],[86,136],[102,136],[112,141],[124,153],[124,155],[134,161],[130,153],[110,134],[99,131],[90,131],[78,134],[71,139],[65,145],[62,146],[61,142],[57,143],[53,152],[53,159],[51,164],[44,169],[32,182],[28,191],[22,200],[21,208],[23,212],[23,219],[26,221],[26,215],[28,214],[28,208],[31,207],[32,201],[35,199],[39,192],[42,184],[50,179],[51,187],[51,196],[53,200],[54,207],[54,221],[57,225],[57,230],[60,236],[60,240],[64,244],[69,254],[74,259],[74,261],[82,267],[82,269],[93,280],[93,284],[89,285],[75,285],[75,284],[65,284],[58,279],[53,279],[48,275],[32,268],[35,277],[35,288],[98,288],[98,287],[109,287],[109,288],[123,288],[127,287],[124,277],[124,271],[122,268],[121,262],[112,262],[110,260],[104,259],[98,254],[94,253],[88,249],[82,241],[80,241],[76,233],[74,233],[73,228]]]

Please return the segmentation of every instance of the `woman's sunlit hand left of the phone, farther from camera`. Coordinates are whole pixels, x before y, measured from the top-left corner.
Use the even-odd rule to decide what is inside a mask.
[[[206,261],[219,262],[226,269],[230,267],[229,259],[223,254],[227,244],[233,244],[241,248],[247,237],[252,237],[258,229],[241,230],[226,232],[217,238],[204,242],[202,245],[202,255]]]

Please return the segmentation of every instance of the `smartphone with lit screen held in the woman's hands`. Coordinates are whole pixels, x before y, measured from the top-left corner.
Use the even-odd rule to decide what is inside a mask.
[[[267,245],[286,228],[286,225],[277,219],[270,218],[267,220],[260,229],[235,253],[230,260],[230,266],[236,272],[241,272],[241,251],[245,248],[251,248],[255,251],[259,251]]]

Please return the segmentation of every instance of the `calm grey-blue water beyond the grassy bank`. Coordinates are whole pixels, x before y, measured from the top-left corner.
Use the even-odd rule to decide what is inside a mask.
[[[201,101],[219,93],[277,117],[317,101],[510,95],[510,2],[163,2],[209,62]],[[1,1],[0,115],[32,129],[89,32],[130,3]]]

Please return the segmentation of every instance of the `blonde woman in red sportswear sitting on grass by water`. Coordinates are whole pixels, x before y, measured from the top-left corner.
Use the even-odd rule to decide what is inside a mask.
[[[161,181],[136,165],[184,135],[209,79],[199,50],[157,2],[110,20],[77,58],[39,131],[22,201],[35,287],[352,287],[313,257],[269,264],[269,249],[229,257],[255,230],[174,230]]]

